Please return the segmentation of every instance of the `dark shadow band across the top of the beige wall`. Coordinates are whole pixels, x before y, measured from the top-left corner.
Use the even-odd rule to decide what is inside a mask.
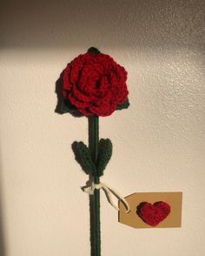
[[[0,48],[203,44],[202,0],[2,0]]]

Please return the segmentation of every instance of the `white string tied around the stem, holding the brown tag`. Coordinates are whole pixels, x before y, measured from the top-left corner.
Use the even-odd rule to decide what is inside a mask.
[[[83,187],[83,192],[89,193],[89,195],[93,195],[95,189],[101,189],[101,188],[104,190],[104,192],[107,192],[110,205],[112,205],[114,208],[116,208],[117,211],[119,211],[119,208],[114,204],[113,199],[112,199],[112,194],[114,194],[117,199],[120,199],[124,203],[124,205],[127,208],[126,212],[127,213],[130,212],[129,203],[126,201],[126,199],[124,199],[114,189],[110,188],[108,185],[105,185],[102,182],[100,182],[99,184],[95,184],[94,182],[92,182],[92,184],[89,185],[88,187]]]

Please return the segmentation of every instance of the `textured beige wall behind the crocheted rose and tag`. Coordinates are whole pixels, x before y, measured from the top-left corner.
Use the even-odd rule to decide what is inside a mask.
[[[1,256],[89,255],[87,181],[71,150],[86,118],[55,113],[65,65],[96,46],[129,73],[127,111],[100,120],[114,154],[103,182],[183,192],[182,228],[117,222],[102,194],[102,255],[205,251],[204,1],[1,1]]]

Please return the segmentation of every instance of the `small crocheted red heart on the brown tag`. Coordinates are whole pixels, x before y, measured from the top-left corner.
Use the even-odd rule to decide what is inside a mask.
[[[156,226],[168,217],[170,211],[170,205],[162,201],[155,202],[153,205],[148,202],[142,202],[137,206],[136,213],[148,225]]]

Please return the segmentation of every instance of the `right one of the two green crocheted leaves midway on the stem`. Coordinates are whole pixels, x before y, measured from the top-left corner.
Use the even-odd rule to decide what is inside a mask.
[[[99,176],[103,175],[105,167],[109,163],[112,156],[112,142],[109,138],[101,138],[99,141],[98,157],[97,157],[97,172]]]

